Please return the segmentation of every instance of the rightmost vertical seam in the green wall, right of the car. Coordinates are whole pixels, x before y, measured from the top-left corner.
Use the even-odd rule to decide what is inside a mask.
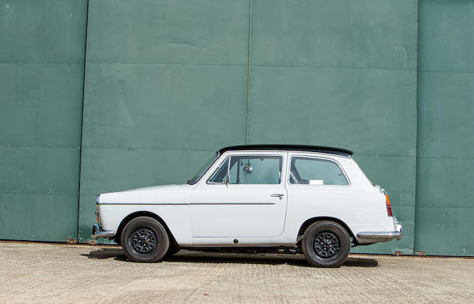
[[[420,1],[416,1],[416,94],[415,94],[415,105],[416,105],[416,140],[415,140],[415,204],[413,209],[413,252],[416,252],[416,202],[417,199],[417,184],[418,184],[418,125],[419,125],[419,113],[418,113],[418,74],[419,74],[419,46],[420,46]]]

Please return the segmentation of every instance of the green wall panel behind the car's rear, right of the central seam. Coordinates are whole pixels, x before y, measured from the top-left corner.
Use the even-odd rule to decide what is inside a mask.
[[[353,252],[412,253],[416,18],[416,1],[253,2],[249,142],[355,151],[405,228]]]

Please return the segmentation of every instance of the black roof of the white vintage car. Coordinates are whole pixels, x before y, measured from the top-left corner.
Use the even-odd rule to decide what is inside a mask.
[[[219,154],[226,151],[239,151],[239,150],[287,150],[287,151],[308,151],[318,152],[326,154],[341,155],[350,158],[354,154],[353,151],[341,148],[335,148],[331,146],[307,146],[304,144],[244,144],[242,146],[226,146],[220,149]]]

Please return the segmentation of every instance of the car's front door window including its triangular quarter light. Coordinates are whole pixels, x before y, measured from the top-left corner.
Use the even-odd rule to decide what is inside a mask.
[[[208,183],[223,184],[229,178],[233,185],[278,185],[281,171],[280,156],[230,156],[214,171]]]

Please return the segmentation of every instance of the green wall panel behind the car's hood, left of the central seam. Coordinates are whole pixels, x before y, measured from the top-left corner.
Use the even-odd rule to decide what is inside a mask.
[[[90,1],[79,240],[95,196],[185,183],[246,134],[249,1]]]

